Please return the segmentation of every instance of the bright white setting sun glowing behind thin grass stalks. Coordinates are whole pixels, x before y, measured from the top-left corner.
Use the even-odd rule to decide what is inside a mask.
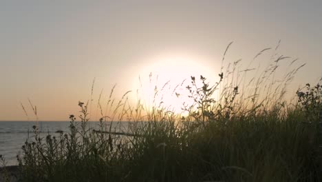
[[[191,76],[211,77],[213,70],[207,67],[206,61],[197,57],[171,55],[149,60],[139,70],[139,78],[133,81],[138,99],[145,108],[164,108],[185,115],[184,107],[193,104],[186,89],[191,85]]]

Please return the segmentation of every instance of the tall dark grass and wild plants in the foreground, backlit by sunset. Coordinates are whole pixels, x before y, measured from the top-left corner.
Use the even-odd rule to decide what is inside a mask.
[[[277,48],[260,51],[242,71],[240,61],[228,63],[213,85],[191,77],[186,90],[193,104],[183,105],[189,113],[184,116],[160,103],[146,108],[140,99],[133,107],[127,93],[116,101],[113,88],[104,115],[98,101],[100,129],[92,130],[87,126],[92,97],[79,102],[80,121],[71,115],[69,132],[41,137],[34,126],[18,157],[21,180],[322,181],[322,87],[306,85],[296,103],[284,101],[303,65],[276,82],[279,62],[290,59],[275,54]],[[271,64],[246,79],[253,61],[269,50]],[[131,127],[115,134],[111,125],[124,120],[132,121]]]

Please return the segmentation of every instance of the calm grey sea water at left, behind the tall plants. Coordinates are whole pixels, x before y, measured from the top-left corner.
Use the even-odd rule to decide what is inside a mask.
[[[80,124],[79,122],[78,125]],[[98,121],[89,121],[88,127],[93,129],[99,128]],[[18,165],[17,154],[21,153],[21,147],[28,138],[32,138],[32,126],[39,128],[39,134],[46,136],[47,134],[57,135],[58,130],[64,133],[69,131],[69,121],[0,121],[0,155],[6,160],[6,165]],[[111,125],[107,122],[106,125]],[[120,132],[127,130],[128,122],[114,122],[112,130]],[[1,166],[1,163],[0,163]]]

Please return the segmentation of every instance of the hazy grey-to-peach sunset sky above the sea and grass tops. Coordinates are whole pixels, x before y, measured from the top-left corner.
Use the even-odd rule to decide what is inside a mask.
[[[91,99],[94,78],[95,101],[114,84],[116,98],[135,91],[149,72],[162,81],[213,78],[231,41],[226,59],[246,64],[281,40],[279,54],[306,63],[290,88],[316,83],[321,8],[296,0],[1,1],[0,121],[34,119],[28,99],[39,120],[67,121]]]

